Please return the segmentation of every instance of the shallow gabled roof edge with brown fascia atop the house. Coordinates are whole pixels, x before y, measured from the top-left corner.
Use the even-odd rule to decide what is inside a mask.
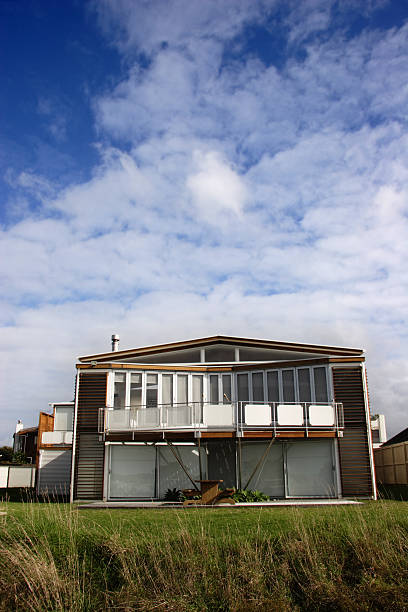
[[[364,353],[363,349],[346,348],[339,346],[326,346],[319,344],[301,344],[297,342],[281,342],[276,340],[258,340],[255,338],[240,338],[235,336],[209,336],[206,338],[196,338],[195,340],[183,340],[181,342],[170,342],[167,344],[156,344],[153,346],[145,346],[134,348],[125,351],[110,351],[109,353],[99,353],[95,355],[86,355],[79,357],[81,362],[89,361],[118,361],[120,359],[130,359],[142,357],[144,355],[152,355],[158,353],[168,353],[171,351],[179,351],[183,349],[200,349],[213,344],[223,344],[229,346],[247,347],[247,348],[263,348],[282,351],[295,351],[300,353],[312,353],[319,355],[333,356],[360,356]]]

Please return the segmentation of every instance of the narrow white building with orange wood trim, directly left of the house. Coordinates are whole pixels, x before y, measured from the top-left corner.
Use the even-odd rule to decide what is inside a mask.
[[[44,430],[38,441],[37,492],[50,496],[68,495],[74,402],[59,402],[50,406],[53,414],[48,416],[51,416],[53,427]]]

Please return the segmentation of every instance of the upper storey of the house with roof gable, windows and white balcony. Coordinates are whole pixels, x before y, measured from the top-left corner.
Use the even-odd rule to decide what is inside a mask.
[[[116,347],[115,347],[116,348]],[[99,431],[236,431],[343,428],[333,364],[361,349],[216,336],[81,357],[107,373]]]

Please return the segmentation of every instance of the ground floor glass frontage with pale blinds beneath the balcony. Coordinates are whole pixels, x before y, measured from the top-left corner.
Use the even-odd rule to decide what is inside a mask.
[[[219,479],[272,499],[341,497],[336,439],[107,442],[104,499],[163,499]]]

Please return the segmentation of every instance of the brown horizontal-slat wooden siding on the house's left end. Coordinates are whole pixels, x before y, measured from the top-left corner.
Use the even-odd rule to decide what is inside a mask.
[[[105,447],[98,434],[98,414],[106,405],[107,374],[78,375],[74,497],[102,499]]]

